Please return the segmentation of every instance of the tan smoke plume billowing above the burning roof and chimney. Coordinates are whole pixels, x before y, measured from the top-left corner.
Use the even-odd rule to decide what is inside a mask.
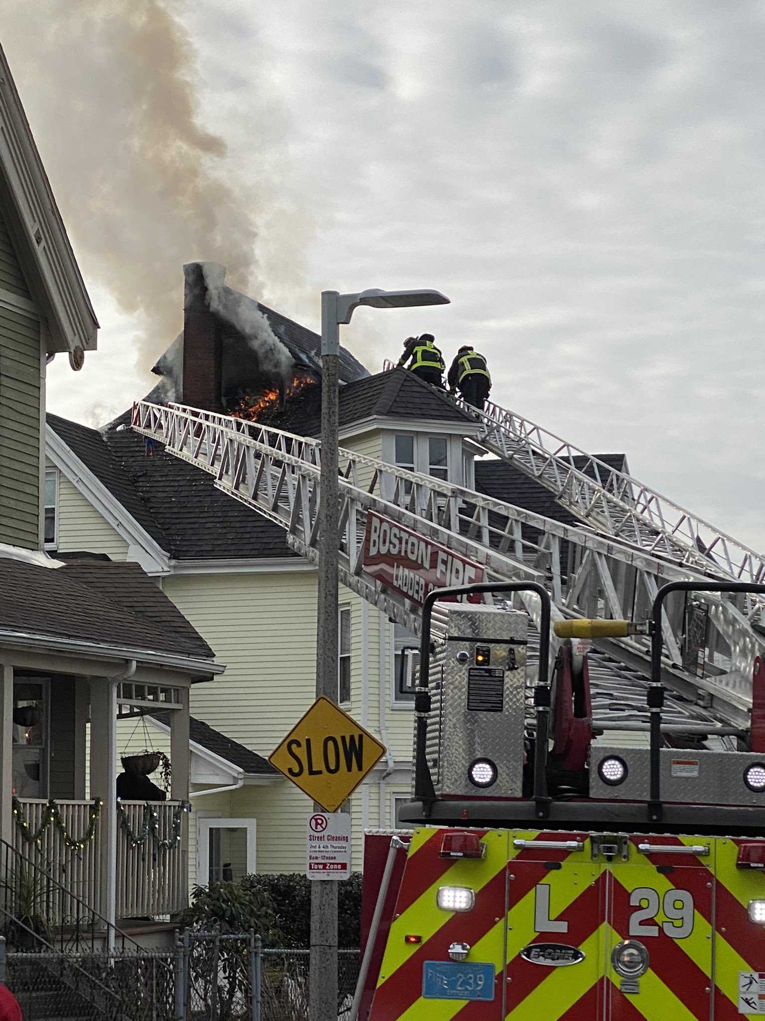
[[[232,286],[266,296],[256,257],[262,179],[256,196],[200,125],[181,10],[178,0],[6,0],[0,14],[86,281],[143,324],[147,372],[183,327],[185,262],[214,258]]]

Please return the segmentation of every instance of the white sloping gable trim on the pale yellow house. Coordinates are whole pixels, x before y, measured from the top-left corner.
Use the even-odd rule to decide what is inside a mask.
[[[168,574],[169,554],[130,515],[110,490],[96,478],[73,450],[50,426],[45,427],[45,450],[59,471],[128,543],[129,560],[140,564],[147,574]],[[137,548],[138,547],[138,548]]]

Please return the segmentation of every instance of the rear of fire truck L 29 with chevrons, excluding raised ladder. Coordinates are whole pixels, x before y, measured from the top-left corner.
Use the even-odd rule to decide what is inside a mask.
[[[538,633],[509,605],[443,601],[488,590],[533,592]],[[733,750],[664,718],[665,601],[704,591],[765,586],[673,582],[645,622],[559,621],[552,676],[541,585],[427,597],[399,814],[414,828],[366,835],[354,1021],[765,1014],[762,662],[751,726],[726,728]],[[630,743],[628,729],[617,741],[593,727],[589,652],[635,633],[650,636],[653,670],[649,740]]]

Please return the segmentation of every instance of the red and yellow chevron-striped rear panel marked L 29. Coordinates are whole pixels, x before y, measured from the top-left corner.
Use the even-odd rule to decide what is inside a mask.
[[[736,867],[740,844],[751,840],[663,835],[651,837],[645,853],[642,835],[630,838],[627,861],[606,861],[593,856],[585,833],[476,832],[484,857],[453,861],[440,857],[444,830],[414,831],[370,1021],[757,1016],[757,1010],[746,1012],[756,992],[740,999],[741,984],[754,982],[749,973],[762,970],[765,978],[765,928],[747,913],[750,901],[765,900],[765,875]],[[564,841],[578,841],[581,849],[544,846]],[[672,849],[683,845],[687,853]],[[692,845],[708,854],[691,852]],[[444,885],[471,888],[473,909],[440,910]],[[643,943],[650,958],[632,981],[612,963],[614,947],[627,939]],[[469,945],[468,962],[494,966],[492,1001],[423,995],[424,963],[448,962],[453,942]],[[579,960],[541,964],[532,949],[550,943],[575,947]]]

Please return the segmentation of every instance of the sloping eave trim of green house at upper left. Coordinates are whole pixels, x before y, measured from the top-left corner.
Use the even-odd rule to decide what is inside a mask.
[[[56,341],[52,346],[59,351],[78,346],[94,350],[98,322],[2,50],[0,162],[21,224],[23,254],[40,278],[58,335],[51,338]]]

